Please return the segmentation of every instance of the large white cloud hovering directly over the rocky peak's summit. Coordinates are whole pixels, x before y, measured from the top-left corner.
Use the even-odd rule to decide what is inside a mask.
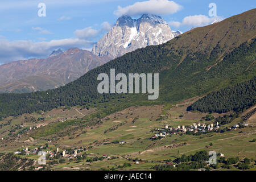
[[[121,7],[114,11],[117,16],[122,15],[141,15],[141,14],[156,14],[167,15],[174,14],[181,9],[182,6],[178,5],[174,1],[168,0],[149,0],[143,2],[136,2],[133,5]]]

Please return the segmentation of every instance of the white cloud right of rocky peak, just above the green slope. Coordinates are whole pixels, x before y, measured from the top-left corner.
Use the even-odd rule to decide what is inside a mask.
[[[175,22],[171,21],[169,22],[170,26],[173,27],[181,27],[181,26],[195,26],[195,27],[201,27],[201,26],[207,26],[208,24],[214,22],[214,20],[221,21],[223,20],[222,17],[211,17],[205,15],[193,15],[193,16],[186,16],[182,22]]]

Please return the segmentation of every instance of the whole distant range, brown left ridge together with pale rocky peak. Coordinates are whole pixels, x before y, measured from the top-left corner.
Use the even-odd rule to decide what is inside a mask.
[[[65,52],[55,49],[46,59],[0,65],[0,93],[58,88],[115,57],[138,48],[162,44],[180,34],[180,31],[171,31],[160,16],[142,15],[137,20],[122,16],[93,47],[93,53],[78,48]]]

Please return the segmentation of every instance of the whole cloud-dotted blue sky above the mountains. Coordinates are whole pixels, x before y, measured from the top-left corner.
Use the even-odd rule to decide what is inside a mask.
[[[152,8],[149,1],[158,1],[159,6]],[[38,16],[41,2],[46,5],[45,17]],[[59,47],[90,49],[122,13],[137,18],[152,11],[161,15],[171,30],[185,32],[214,19],[208,15],[210,3],[216,3],[218,19],[243,13],[256,5],[255,0],[1,0],[0,64],[47,57]]]

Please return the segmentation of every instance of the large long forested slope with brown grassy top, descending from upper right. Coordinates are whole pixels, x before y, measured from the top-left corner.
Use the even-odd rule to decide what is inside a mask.
[[[250,80],[256,76],[255,16],[253,9],[195,28],[160,46],[137,49],[58,89],[1,94],[0,115],[66,105],[118,110],[128,105],[165,104]],[[115,68],[115,73],[159,73],[159,99],[148,101],[145,94],[98,94],[97,76],[109,74],[111,68]]]

